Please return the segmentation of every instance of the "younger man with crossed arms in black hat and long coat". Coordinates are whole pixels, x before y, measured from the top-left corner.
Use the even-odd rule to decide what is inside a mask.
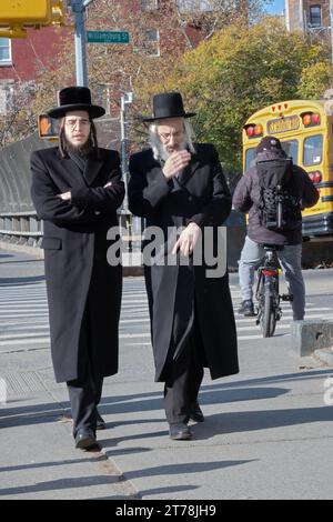
[[[97,409],[103,378],[118,371],[121,265],[107,262],[107,233],[118,227],[124,197],[118,152],[98,147],[85,87],[59,93],[49,116],[60,120],[59,147],[31,154],[31,197],[44,221],[51,355],[57,382],[67,382],[75,446],[95,445],[104,428]]]

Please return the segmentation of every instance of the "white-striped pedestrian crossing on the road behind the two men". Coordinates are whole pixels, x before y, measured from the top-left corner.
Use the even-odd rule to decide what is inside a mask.
[[[255,318],[238,314],[240,290],[231,285],[236,320],[238,339],[246,342],[262,339]],[[280,335],[290,334],[292,309],[282,302],[282,319],[276,327]],[[208,303],[209,307],[209,303]],[[320,305],[311,299],[306,303],[306,319],[333,320],[333,308]],[[122,347],[150,345],[150,323],[143,278],[125,278],[120,320]],[[1,284],[0,287],[0,353],[19,350],[48,349],[50,345],[49,314],[44,281],[33,284]]]

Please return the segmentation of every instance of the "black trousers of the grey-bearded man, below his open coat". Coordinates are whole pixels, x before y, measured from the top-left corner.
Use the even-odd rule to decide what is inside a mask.
[[[175,359],[168,361],[164,384],[164,408],[169,424],[188,423],[191,405],[198,400],[203,379],[203,364],[194,339]]]

